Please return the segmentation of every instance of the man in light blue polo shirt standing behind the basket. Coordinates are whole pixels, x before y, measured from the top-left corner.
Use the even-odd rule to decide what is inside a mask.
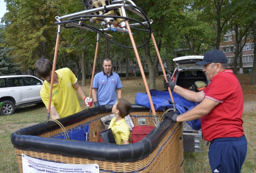
[[[95,106],[115,104],[116,93],[118,99],[122,98],[123,86],[119,75],[111,71],[111,59],[103,60],[103,68],[104,71],[97,73],[93,80],[92,95]]]

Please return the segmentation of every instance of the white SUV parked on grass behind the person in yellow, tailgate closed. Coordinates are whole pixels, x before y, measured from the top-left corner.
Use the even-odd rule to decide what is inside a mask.
[[[30,75],[0,76],[1,115],[11,115],[15,107],[41,103],[43,81]]]

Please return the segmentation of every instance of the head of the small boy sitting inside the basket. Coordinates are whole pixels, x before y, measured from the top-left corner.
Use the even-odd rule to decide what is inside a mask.
[[[131,103],[123,98],[117,99],[113,108],[112,113],[118,114],[120,117],[124,118],[131,112]]]

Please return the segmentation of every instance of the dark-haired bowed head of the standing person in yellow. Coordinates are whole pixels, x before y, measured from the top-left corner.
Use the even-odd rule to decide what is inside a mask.
[[[40,77],[48,76],[52,69],[53,63],[48,59],[41,58],[35,63],[35,71]]]

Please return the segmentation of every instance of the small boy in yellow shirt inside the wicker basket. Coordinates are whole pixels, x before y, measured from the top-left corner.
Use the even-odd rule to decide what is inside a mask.
[[[109,128],[111,128],[116,144],[129,144],[129,125],[125,121],[125,117],[131,112],[131,103],[123,98],[117,99],[112,113],[115,117],[112,118]]]

